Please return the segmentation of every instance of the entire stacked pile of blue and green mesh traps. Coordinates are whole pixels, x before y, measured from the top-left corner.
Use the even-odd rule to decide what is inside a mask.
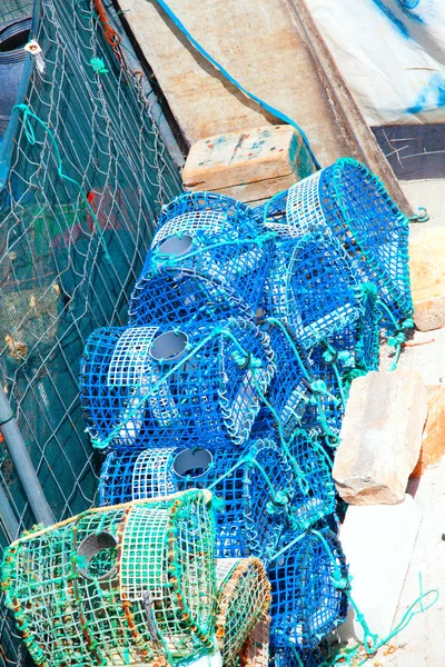
[[[348,590],[332,461],[352,380],[412,326],[407,236],[352,159],[258,209],[164,208],[128,326],[81,362],[101,507],[7,554],[38,664],[322,664]]]

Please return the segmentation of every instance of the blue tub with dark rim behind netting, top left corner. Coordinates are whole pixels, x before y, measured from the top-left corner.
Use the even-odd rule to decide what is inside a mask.
[[[23,74],[29,41],[31,18],[8,23],[0,29],[0,142],[16,104],[17,93]]]

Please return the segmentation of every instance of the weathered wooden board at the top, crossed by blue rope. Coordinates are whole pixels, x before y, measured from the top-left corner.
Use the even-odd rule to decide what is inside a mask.
[[[189,44],[156,1],[119,0],[169,106],[191,145],[276,125]],[[300,125],[322,165],[355,155],[307,46],[283,0],[169,0],[194,37],[248,90]]]

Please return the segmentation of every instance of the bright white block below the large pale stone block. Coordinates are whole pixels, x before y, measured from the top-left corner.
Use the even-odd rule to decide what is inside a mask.
[[[352,577],[350,595],[372,633],[387,637],[409,566],[422,516],[411,496],[396,505],[349,506],[340,541]],[[344,641],[363,641],[363,628],[349,608],[337,629]]]

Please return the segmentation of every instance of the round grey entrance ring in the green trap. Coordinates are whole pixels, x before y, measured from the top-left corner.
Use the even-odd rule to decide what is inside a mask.
[[[77,554],[85,563],[79,567],[86,579],[109,581],[116,574],[117,539],[110,532],[93,532],[80,542]]]

